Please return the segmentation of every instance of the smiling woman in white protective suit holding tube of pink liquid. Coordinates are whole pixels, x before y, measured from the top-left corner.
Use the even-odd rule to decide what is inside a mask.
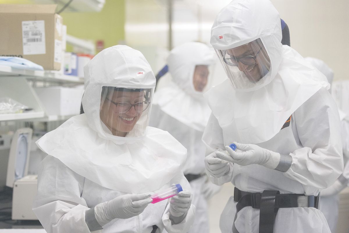
[[[85,114],[37,141],[48,156],[33,211],[51,232],[187,232],[194,220],[186,149],[148,127],[155,77],[141,52],[117,45],[85,67]],[[150,194],[183,187],[149,204]],[[171,200],[171,203],[170,203]]]

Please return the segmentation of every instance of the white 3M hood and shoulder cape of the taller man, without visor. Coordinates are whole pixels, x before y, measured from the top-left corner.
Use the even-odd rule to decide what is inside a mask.
[[[205,94],[223,131],[239,143],[271,139],[300,105],[320,88],[329,88],[327,82],[317,81],[325,80],[323,74],[281,44],[280,16],[268,0],[232,1],[218,13],[211,29],[214,49],[236,48],[258,38],[271,62],[268,81],[238,90],[228,79]]]

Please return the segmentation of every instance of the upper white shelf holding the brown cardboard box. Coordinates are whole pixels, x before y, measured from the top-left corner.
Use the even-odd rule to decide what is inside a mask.
[[[10,66],[0,65],[0,78],[9,76],[25,76],[27,79],[36,79],[42,81],[58,81],[84,83],[83,78],[60,74],[58,71],[32,71],[12,68]]]

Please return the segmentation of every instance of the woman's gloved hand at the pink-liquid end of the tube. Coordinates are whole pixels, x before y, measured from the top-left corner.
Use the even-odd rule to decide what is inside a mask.
[[[150,194],[126,194],[95,206],[95,218],[103,226],[115,218],[139,215],[153,199]]]

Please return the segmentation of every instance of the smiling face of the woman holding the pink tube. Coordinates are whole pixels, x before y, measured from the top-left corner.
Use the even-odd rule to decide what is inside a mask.
[[[102,100],[103,101],[103,100]],[[144,101],[144,91],[114,91],[107,93],[99,116],[114,136],[125,137],[142,115],[143,104],[129,104]],[[128,104],[129,103],[129,104]],[[136,110],[137,109],[137,110]],[[124,112],[125,111],[125,112]]]

